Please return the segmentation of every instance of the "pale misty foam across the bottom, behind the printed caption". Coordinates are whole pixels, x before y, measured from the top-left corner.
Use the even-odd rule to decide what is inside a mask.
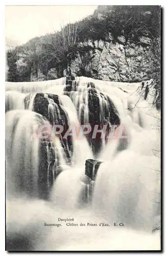
[[[13,212],[17,214],[13,215]],[[7,202],[7,216],[7,231],[9,229],[12,233],[17,230],[20,236],[26,238],[26,243],[31,241],[33,250],[97,251],[160,248],[159,232],[148,233],[126,227],[114,227],[113,221],[108,222],[103,216],[96,216],[90,209],[67,211],[48,202],[20,199]],[[67,226],[65,222],[58,222],[58,218],[73,218],[78,226]],[[61,223],[63,226],[46,227],[44,223]],[[80,223],[86,226],[80,226]],[[87,227],[88,223],[109,223],[110,226]]]

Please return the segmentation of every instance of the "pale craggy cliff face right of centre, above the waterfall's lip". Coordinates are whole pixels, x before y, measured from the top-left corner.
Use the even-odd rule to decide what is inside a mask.
[[[109,81],[135,82],[148,79],[146,56],[150,54],[150,38],[142,37],[137,44],[125,46],[125,38],[113,42],[111,35],[106,41],[88,40],[80,42],[75,58],[71,61],[74,76],[85,75]],[[84,49],[89,49],[84,54]],[[81,51],[82,49],[82,51]]]

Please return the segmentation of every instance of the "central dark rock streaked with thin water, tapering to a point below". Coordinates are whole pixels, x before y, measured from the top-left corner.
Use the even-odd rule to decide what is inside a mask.
[[[77,81],[71,81],[64,88],[64,94],[68,95],[75,105],[80,124],[90,124],[91,132],[85,136],[92,148],[94,157],[97,157],[103,144],[107,143],[112,129],[111,125],[118,126],[121,120],[112,99],[107,94],[95,89],[93,82],[88,82],[83,91],[81,89],[79,90]],[[97,132],[101,130],[105,134],[104,138],[101,132]]]

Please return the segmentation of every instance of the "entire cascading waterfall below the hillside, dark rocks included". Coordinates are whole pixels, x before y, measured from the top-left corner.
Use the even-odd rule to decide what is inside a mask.
[[[7,83],[7,91],[7,247],[158,249],[160,234],[151,232],[160,225],[160,156],[153,154],[160,152],[159,131],[153,129],[160,113],[144,100],[141,84],[77,77],[66,85],[64,78]],[[147,98],[153,102],[154,96]],[[54,124],[65,127],[63,135],[52,135]],[[103,139],[80,138],[81,124],[106,124],[108,130]],[[118,137],[121,124],[127,138]],[[42,125],[46,139],[39,137]],[[75,136],[65,140],[70,127]],[[85,175],[87,159],[92,177]],[[78,226],[44,227],[61,223],[58,218],[74,218]],[[114,226],[119,222],[124,227]]]

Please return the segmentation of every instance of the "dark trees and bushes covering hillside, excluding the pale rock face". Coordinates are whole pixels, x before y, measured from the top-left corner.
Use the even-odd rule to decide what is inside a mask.
[[[92,45],[82,44],[89,40]],[[62,77],[65,68],[71,72],[70,63],[78,53],[81,67],[77,75],[93,76],[85,67],[87,59],[92,57],[90,52],[96,47],[95,41],[99,40],[112,40],[113,44],[119,42],[123,45],[127,66],[127,49],[142,46],[145,49],[144,58],[150,65],[135,65],[134,71],[146,70],[147,78],[152,78],[160,90],[159,6],[99,6],[93,15],[80,22],[68,24],[61,31],[35,37],[24,45],[10,49],[7,52],[7,80],[40,81]]]

